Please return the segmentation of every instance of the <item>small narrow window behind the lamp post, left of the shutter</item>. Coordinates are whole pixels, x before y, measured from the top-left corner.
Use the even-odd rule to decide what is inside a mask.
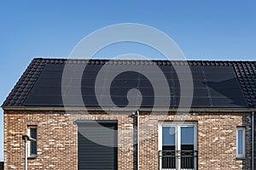
[[[38,127],[28,126],[28,136],[32,139],[38,139]],[[29,141],[28,142],[28,157],[37,157],[38,156],[38,142]]]

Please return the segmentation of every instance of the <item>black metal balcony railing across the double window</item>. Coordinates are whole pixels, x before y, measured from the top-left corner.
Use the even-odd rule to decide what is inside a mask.
[[[197,151],[195,150],[160,150],[159,157],[160,169],[197,169]]]

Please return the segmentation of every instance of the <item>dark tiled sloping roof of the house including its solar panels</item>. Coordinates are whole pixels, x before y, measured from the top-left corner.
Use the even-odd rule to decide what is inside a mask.
[[[256,61],[203,61],[203,60],[189,60],[189,61],[166,61],[166,60],[105,60],[105,59],[33,59],[31,64],[28,65],[26,71],[16,83],[15,88],[10,92],[7,99],[4,101],[2,107],[29,107],[29,106],[56,106],[63,107],[61,98],[61,76],[64,65],[91,65],[87,71],[92,74],[85,74],[84,82],[82,81],[82,95],[86,106],[100,106],[97,102],[96,94],[94,92],[94,84],[96,81],[96,74],[102,68],[102,65],[134,65],[135,67],[143,67],[143,65],[158,65],[164,71],[167,69],[173,72],[172,66],[183,67],[189,65],[192,71],[194,82],[194,96],[192,107],[229,107],[229,108],[256,108]],[[94,67],[95,66],[95,67]],[[87,66],[86,66],[87,68]],[[62,70],[61,70],[62,69]],[[95,70],[94,70],[95,69]],[[169,75],[169,72],[166,74]],[[53,74],[52,74],[53,73]],[[175,76],[175,71],[172,76]],[[208,75],[207,75],[208,74]],[[121,86],[113,86],[112,89],[103,89],[102,91],[111,90],[113,93],[112,99],[114,104],[118,106],[127,105],[126,94],[131,88],[139,88],[143,95],[143,106],[153,106],[150,84],[146,87],[139,87],[138,83],[143,81],[143,78],[137,79],[135,84],[132,84],[132,78],[143,77],[141,75],[133,75],[130,72],[126,77],[120,78]],[[195,77],[200,77],[198,80]],[[106,79],[107,80],[107,79]],[[115,80],[115,79],[114,79]],[[56,82],[57,81],[57,82]],[[131,82],[130,85],[125,86],[124,83]],[[177,107],[180,99],[180,87],[175,84],[176,78],[170,78],[170,95],[171,106]],[[134,82],[134,81],[133,81]],[[54,85],[50,85],[50,84]],[[83,83],[85,84],[83,86]],[[118,80],[117,82],[118,83]],[[148,82],[147,82],[148,83]],[[57,84],[57,85],[56,85]],[[90,84],[90,86],[88,85]],[[201,87],[203,85],[203,87]],[[137,86],[137,87],[136,87]],[[142,86],[142,85],[141,85]],[[72,89],[71,84],[68,89]],[[109,87],[108,87],[109,88]],[[129,89],[128,89],[129,88]],[[152,87],[151,87],[152,88]],[[63,87],[62,87],[63,90]],[[166,89],[164,89],[166,90]],[[74,92],[75,89],[71,90]],[[65,92],[67,95],[69,91]],[[121,95],[119,95],[121,93]],[[151,94],[150,94],[151,93]],[[49,95],[48,95],[49,94]],[[149,94],[149,95],[148,95]],[[94,95],[94,96],[93,96]],[[148,97],[147,97],[148,95]],[[108,99],[102,101],[106,106],[112,106],[106,103]],[[70,100],[73,101],[72,106],[79,106],[73,94],[69,94]],[[72,98],[73,97],[73,98]],[[137,95],[131,96],[137,98]],[[159,99],[164,99],[162,96],[154,96]],[[167,96],[168,97],[168,96]],[[86,103],[87,102],[87,103]],[[137,104],[137,103],[136,103]]]

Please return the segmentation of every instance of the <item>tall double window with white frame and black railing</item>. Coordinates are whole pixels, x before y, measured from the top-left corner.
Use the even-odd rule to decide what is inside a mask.
[[[197,168],[197,124],[160,123],[160,169]]]

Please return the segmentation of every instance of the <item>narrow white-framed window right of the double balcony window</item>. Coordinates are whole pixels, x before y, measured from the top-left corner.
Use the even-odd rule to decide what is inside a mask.
[[[245,128],[236,129],[236,156],[245,157]]]

